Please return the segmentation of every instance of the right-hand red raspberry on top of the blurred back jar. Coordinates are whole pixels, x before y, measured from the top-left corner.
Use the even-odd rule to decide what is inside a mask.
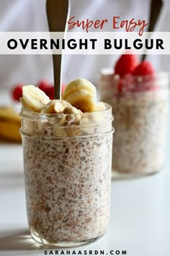
[[[155,74],[153,65],[149,61],[142,61],[134,70],[133,75],[143,76],[147,74]]]

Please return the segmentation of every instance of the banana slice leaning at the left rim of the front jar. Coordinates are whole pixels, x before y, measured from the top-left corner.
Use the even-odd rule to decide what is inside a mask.
[[[22,98],[24,102],[36,112],[40,112],[43,106],[50,101],[50,98],[34,85],[23,86]]]

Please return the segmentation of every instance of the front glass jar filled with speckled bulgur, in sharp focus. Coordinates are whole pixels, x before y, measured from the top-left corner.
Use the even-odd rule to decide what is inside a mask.
[[[27,218],[37,242],[78,246],[106,232],[113,132],[106,106],[83,115],[22,110]]]

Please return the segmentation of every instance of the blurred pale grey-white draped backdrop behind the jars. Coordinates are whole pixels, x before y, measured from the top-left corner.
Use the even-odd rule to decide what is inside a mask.
[[[71,17],[92,20],[108,19],[103,31],[112,31],[112,17],[122,20],[145,19],[148,22],[150,0],[71,0]],[[170,30],[170,1],[164,1],[164,9],[156,25],[157,31]],[[1,0],[0,31],[48,31],[45,0]],[[77,29],[75,29],[76,31]],[[71,30],[73,31],[73,30]],[[92,31],[92,29],[91,29]],[[64,56],[63,81],[86,77],[97,84],[99,70],[113,67],[118,56]],[[156,69],[170,71],[169,56],[149,56]],[[0,88],[8,90],[18,82],[36,84],[38,80],[53,82],[51,56],[1,56]]]

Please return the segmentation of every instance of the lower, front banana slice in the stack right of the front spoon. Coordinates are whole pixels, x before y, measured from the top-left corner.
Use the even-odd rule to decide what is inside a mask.
[[[94,95],[88,90],[76,90],[71,95],[68,95],[66,101],[71,103],[75,108],[80,109],[82,112],[94,111],[96,99]]]

